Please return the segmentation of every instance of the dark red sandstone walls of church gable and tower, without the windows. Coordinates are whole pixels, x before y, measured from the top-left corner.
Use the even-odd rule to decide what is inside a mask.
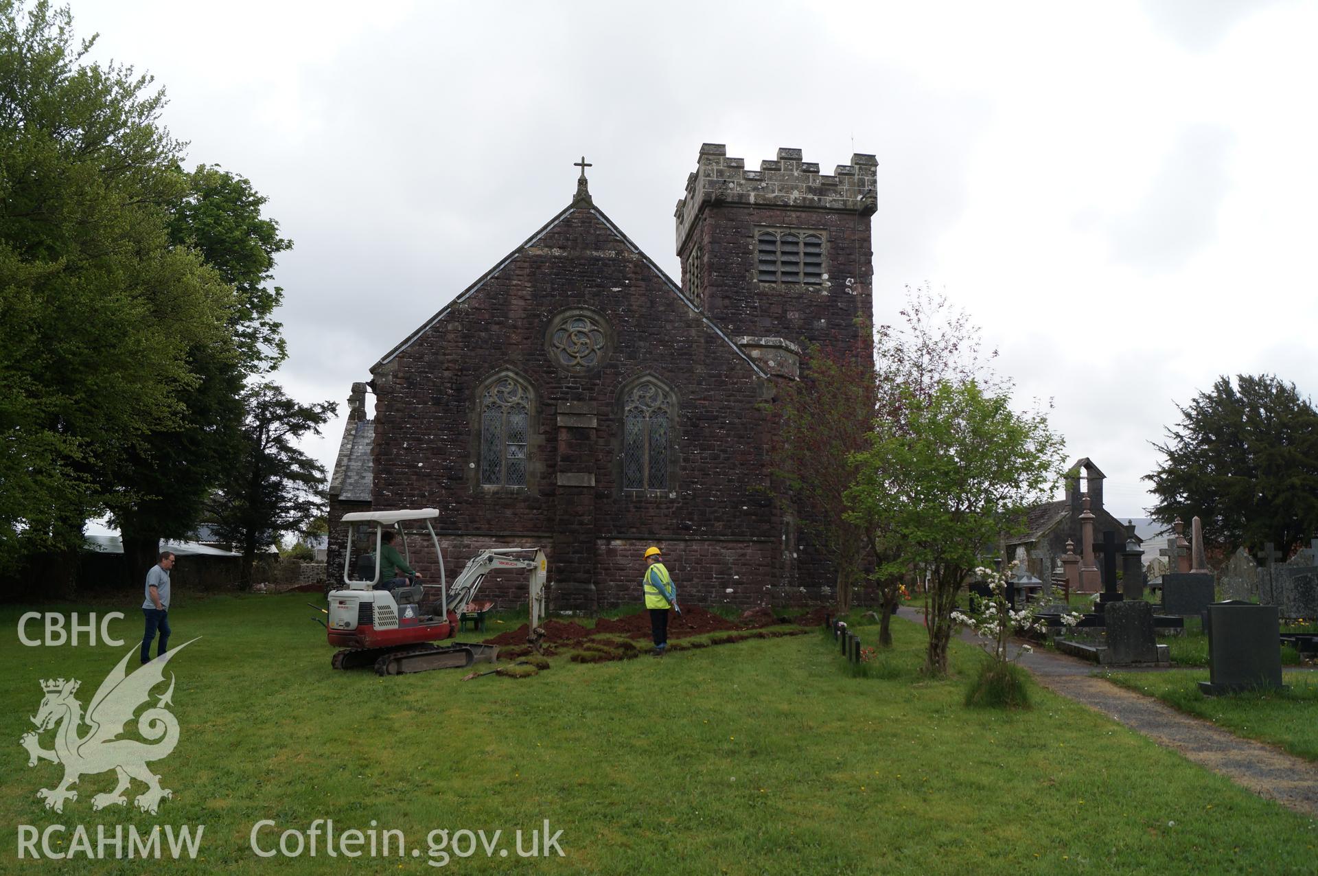
[[[780,162],[783,173],[804,174],[803,179],[815,173],[809,184],[822,180],[799,158],[795,165],[791,155]],[[702,150],[701,167],[706,165],[710,159]],[[725,175],[735,177],[733,170]],[[551,553],[552,601],[559,610],[633,603],[639,556],[650,543],[664,545],[683,591],[706,605],[818,599],[821,588],[832,588],[833,572],[812,549],[808,534],[789,527],[771,498],[776,486],[767,457],[771,420],[760,407],[772,395],[771,381],[757,377],[728,339],[853,341],[855,315],[870,312],[873,208],[859,203],[858,192],[873,173],[842,177],[837,192],[828,188],[833,183],[820,182],[818,191],[828,195],[822,200],[809,186],[797,191],[792,179],[775,177],[780,198],[759,191],[754,204],[693,207],[687,217],[693,223],[689,240],[705,246],[708,308],[722,336],[643,254],[588,205],[577,205],[391,361],[373,369],[373,506],[438,508],[436,528],[463,534],[442,539],[449,578],[481,547],[544,548]],[[731,191],[741,183],[720,186]],[[828,287],[755,283],[754,229],[760,225],[826,231]],[[547,324],[569,307],[597,311],[612,332],[609,358],[585,374],[560,369],[544,349]],[[478,483],[477,407],[485,386],[505,371],[535,395],[526,489]],[[676,395],[675,478],[668,490],[625,494],[622,394],[643,375],[659,378]],[[560,408],[569,404],[573,411],[593,408],[596,427],[560,427]],[[560,486],[560,473],[593,474],[594,486]],[[343,545],[337,519],[361,508],[331,502],[335,580]],[[784,539],[789,532],[796,544]],[[427,577],[435,572],[420,568]],[[522,578],[492,580],[484,595],[521,605],[525,588]]]

